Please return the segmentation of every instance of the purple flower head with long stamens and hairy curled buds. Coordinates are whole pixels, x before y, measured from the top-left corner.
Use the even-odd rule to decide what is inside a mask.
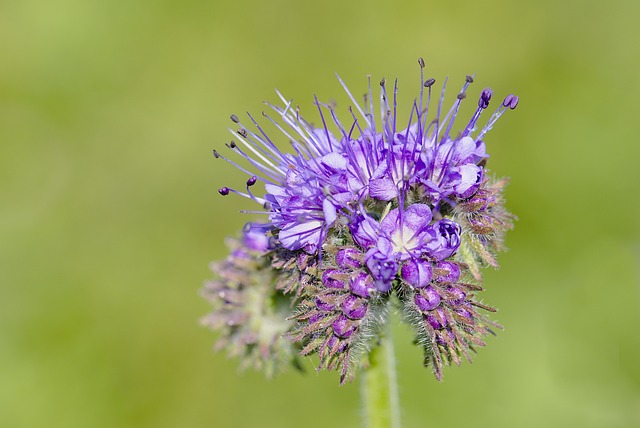
[[[338,78],[354,103],[346,125],[317,99],[320,125],[313,125],[278,93],[284,106],[268,104],[276,118],[263,116],[290,142],[288,151],[251,115],[251,126],[231,116],[227,147],[244,161],[214,155],[249,178],[244,190],[219,193],[252,199],[262,209],[248,212],[268,220],[245,227],[229,259],[215,266],[218,279],[205,287],[215,308],[207,320],[222,327],[225,347],[253,365],[315,353],[319,369],[340,370],[345,382],[399,311],[441,379],[443,365],[470,360],[499,328],[480,311],[494,309],[475,294],[480,270],[497,266],[513,216],[504,208],[506,181],[488,175],[484,136],[518,97],[504,98],[479,127],[493,95],[484,89],[453,134],[473,78],[445,113],[445,85],[434,95],[435,80],[419,64],[420,93],[406,126],[396,114],[397,81],[389,96],[384,79],[380,121],[371,82],[361,106]],[[254,191],[258,182],[264,191]],[[276,296],[288,305],[275,310]]]

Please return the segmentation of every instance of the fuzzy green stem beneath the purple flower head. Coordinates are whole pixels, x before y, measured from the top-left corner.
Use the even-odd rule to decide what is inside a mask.
[[[361,393],[365,428],[400,428],[391,326],[384,333],[380,345],[371,351],[370,366],[363,373]]]

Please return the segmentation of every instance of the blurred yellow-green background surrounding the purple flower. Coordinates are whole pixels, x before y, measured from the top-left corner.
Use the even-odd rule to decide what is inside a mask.
[[[640,426],[637,1],[0,3],[0,426],[357,427],[357,382],[238,373],[198,324],[251,217],[211,156],[274,88],[520,95],[487,139],[519,216],[506,326],[439,384],[396,326],[406,427]],[[451,99],[451,98],[450,98]],[[469,101],[468,106],[475,101]],[[402,104],[404,103],[404,104]],[[402,111],[402,110],[401,110]],[[468,111],[468,110],[467,110]],[[316,119],[313,119],[316,120]]]

